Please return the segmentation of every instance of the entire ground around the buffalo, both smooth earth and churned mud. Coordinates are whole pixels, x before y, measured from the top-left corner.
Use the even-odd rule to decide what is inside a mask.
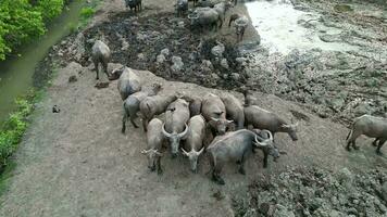
[[[332,122],[386,112],[386,28],[380,15],[338,13],[334,1],[292,1],[300,10],[323,14],[322,25],[345,29],[342,36],[324,39],[362,46],[354,53],[309,50],[284,55],[258,46],[260,36],[252,26],[241,43],[227,25],[217,34],[191,31],[188,20],[174,15],[172,2],[143,1],[145,10],[135,15],[120,0],[104,1],[87,29],[51,49],[36,80],[49,77],[53,67],[58,77],[36,105],[9,191],[1,197],[0,216],[387,216],[386,156],[377,156],[366,138],[359,139],[360,151],[347,152],[348,129]],[[232,12],[246,9],[239,4]],[[320,24],[305,23],[300,22],[319,29]],[[142,130],[129,125],[121,133],[116,81],[93,88],[88,53],[98,38],[111,48],[112,62],[151,71],[154,75],[137,73],[147,85],[162,82],[161,94],[227,90],[242,99],[237,91],[255,90],[260,106],[300,122],[300,140],[292,143],[279,133],[278,146],[288,154],[270,162],[267,169],[262,168],[261,153],[248,161],[247,176],[227,165],[224,187],[211,182],[205,158],[194,175],[184,157],[166,155],[164,174],[151,174],[140,155],[146,146]],[[211,53],[216,41],[225,46],[222,58]],[[68,82],[71,76],[77,81]],[[51,113],[53,104],[61,113]]]

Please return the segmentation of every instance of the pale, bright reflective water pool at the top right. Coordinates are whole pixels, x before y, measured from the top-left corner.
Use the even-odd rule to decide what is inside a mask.
[[[319,34],[339,34],[341,30],[320,24],[319,30],[305,28],[299,22],[313,22],[319,14],[295,10],[288,0],[253,1],[246,3],[252,24],[261,36],[261,44],[273,52],[289,53],[292,49],[319,48],[329,51],[357,49],[340,42],[324,42]]]

